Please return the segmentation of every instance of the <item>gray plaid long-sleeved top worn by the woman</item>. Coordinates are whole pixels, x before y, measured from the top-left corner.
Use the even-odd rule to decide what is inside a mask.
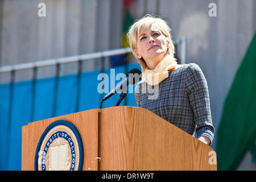
[[[159,85],[140,81],[135,88],[138,107],[159,115],[197,137],[205,136],[212,144],[214,127],[210,114],[207,81],[199,65],[183,64],[169,72]]]

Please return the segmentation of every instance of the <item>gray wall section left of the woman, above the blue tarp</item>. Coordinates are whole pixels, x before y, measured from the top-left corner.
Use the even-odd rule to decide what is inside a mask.
[[[38,16],[40,2],[46,4],[46,17]],[[122,1],[5,0],[0,5],[1,66],[121,47]],[[83,71],[100,69],[98,61],[84,61]],[[61,65],[61,75],[75,72],[76,63]],[[54,66],[38,70],[38,77],[53,75]],[[15,80],[31,77],[32,70],[18,71]],[[9,80],[10,73],[0,75],[0,82]]]

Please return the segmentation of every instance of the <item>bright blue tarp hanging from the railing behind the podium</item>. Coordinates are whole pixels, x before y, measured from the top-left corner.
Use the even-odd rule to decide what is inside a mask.
[[[115,76],[118,73],[126,73],[133,68],[140,69],[139,64],[127,65],[127,69],[124,65],[115,67]],[[22,126],[33,121],[100,108],[101,93],[98,92],[98,88],[102,88],[102,86],[99,86],[102,80],[97,79],[100,73],[101,71],[81,73],[80,86],[77,86],[79,85],[77,74],[60,76],[57,79],[57,87],[55,77],[41,78],[35,80],[35,82],[29,80],[14,82],[13,84],[1,84],[0,170],[21,169]],[[105,85],[108,86],[108,89],[105,89],[109,92],[122,78],[121,80],[117,80],[119,78],[110,77],[110,69],[105,69],[104,73],[108,75],[109,85]],[[110,79],[115,80],[115,84],[110,84]],[[77,92],[78,88],[79,92]],[[134,88],[135,85],[129,86],[129,93],[125,100],[121,102],[120,106],[137,106],[134,98]],[[79,98],[77,99],[78,93]],[[12,97],[10,97],[10,94]],[[105,94],[103,93],[103,96]],[[57,96],[56,102],[55,95]],[[115,106],[118,99],[119,93],[106,100],[102,108]],[[79,101],[78,104],[77,100]]]

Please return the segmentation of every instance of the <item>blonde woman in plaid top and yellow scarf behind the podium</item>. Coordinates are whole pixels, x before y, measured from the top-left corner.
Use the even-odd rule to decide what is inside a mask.
[[[214,127],[207,81],[197,64],[177,64],[170,32],[166,21],[151,15],[130,27],[129,44],[142,68],[142,81],[135,88],[137,106],[211,144]],[[143,92],[149,86],[158,89],[157,97]]]

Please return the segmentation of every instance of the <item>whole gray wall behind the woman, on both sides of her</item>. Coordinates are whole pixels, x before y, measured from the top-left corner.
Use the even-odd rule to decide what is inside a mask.
[[[40,2],[46,3],[46,17],[37,15]],[[217,5],[216,17],[208,15],[212,2]],[[121,47],[119,0],[4,0],[0,12],[1,66]],[[147,13],[163,15],[173,39],[187,37],[187,63],[199,64],[207,78],[217,129],[226,94],[256,30],[256,1],[134,0],[130,12],[134,19]],[[83,71],[100,69],[98,61],[84,62]],[[61,65],[62,75],[76,71],[75,63]],[[38,77],[53,75],[55,67],[38,72]],[[31,77],[31,70],[16,73],[16,80]],[[0,75],[0,82],[9,80],[10,73]],[[250,163],[248,155],[243,164]]]

